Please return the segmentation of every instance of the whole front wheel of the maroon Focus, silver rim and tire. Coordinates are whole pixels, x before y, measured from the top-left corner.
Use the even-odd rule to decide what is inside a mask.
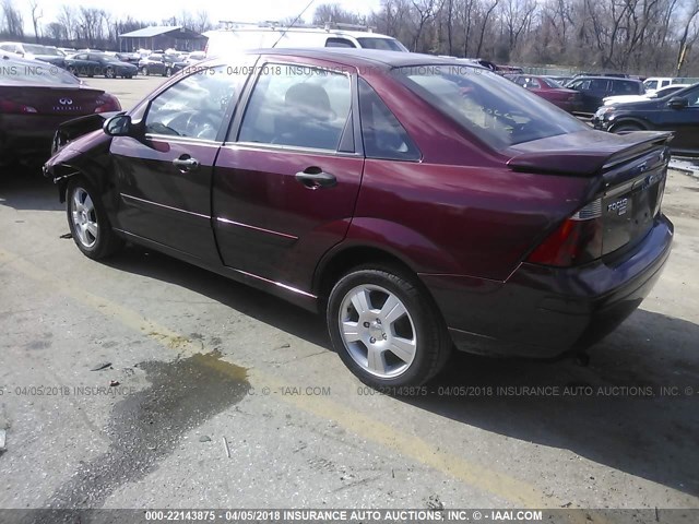
[[[85,257],[103,259],[123,241],[111,229],[99,195],[86,180],[73,177],[66,191],[68,225],[73,241]]]

